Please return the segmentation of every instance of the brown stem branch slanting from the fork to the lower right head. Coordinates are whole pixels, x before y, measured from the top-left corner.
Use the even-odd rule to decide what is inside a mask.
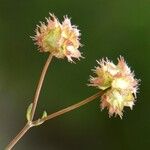
[[[90,97],[84,99],[84,100],[81,101],[81,102],[78,102],[78,103],[76,103],[76,104],[74,104],[74,105],[71,105],[71,106],[69,106],[69,107],[67,107],[67,108],[64,108],[64,109],[59,110],[59,111],[57,111],[57,112],[55,112],[55,113],[52,113],[52,114],[50,114],[50,115],[48,115],[47,117],[44,117],[44,118],[42,118],[42,119],[38,119],[38,120],[36,120],[36,121],[33,121],[32,124],[33,124],[33,126],[36,126],[36,125],[38,125],[40,122],[43,123],[43,122],[45,122],[45,121],[47,121],[47,120],[50,120],[50,119],[52,119],[52,118],[58,117],[58,116],[60,116],[60,115],[63,115],[63,114],[65,114],[65,113],[69,112],[69,111],[72,111],[72,110],[74,110],[74,109],[76,109],[76,108],[78,108],[78,107],[81,107],[81,106],[83,106],[83,105],[85,105],[85,104],[87,104],[87,103],[93,101],[93,100],[96,99],[97,97],[101,96],[103,93],[104,93],[104,91],[100,91],[100,92],[98,92],[98,93],[96,93],[96,94],[94,94],[94,95],[92,95],[92,96],[90,96]]]

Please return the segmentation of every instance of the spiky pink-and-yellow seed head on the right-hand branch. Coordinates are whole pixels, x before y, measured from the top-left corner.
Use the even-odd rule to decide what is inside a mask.
[[[109,116],[113,114],[122,118],[123,108],[132,109],[136,98],[138,80],[134,78],[123,57],[118,59],[118,64],[102,59],[95,68],[96,77],[90,78],[90,85],[96,86],[106,92],[101,97],[101,108],[109,110]]]

